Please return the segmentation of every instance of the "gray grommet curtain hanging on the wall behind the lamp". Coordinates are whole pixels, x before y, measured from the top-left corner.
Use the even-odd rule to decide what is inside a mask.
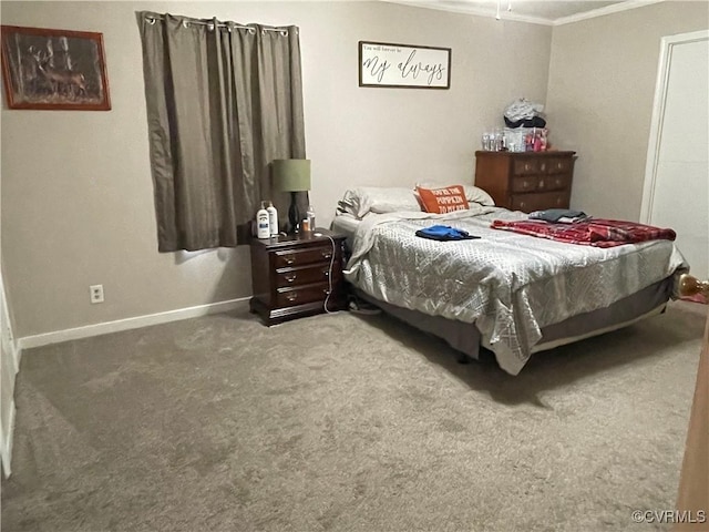
[[[136,16],[158,249],[236,246],[263,200],[285,223],[269,165],[306,157],[298,29]]]

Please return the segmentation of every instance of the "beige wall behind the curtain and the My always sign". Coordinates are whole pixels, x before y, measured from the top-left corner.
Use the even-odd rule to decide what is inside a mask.
[[[3,105],[1,242],[18,338],[250,295],[246,247],[156,252],[134,16],[143,9],[300,27],[320,225],[348,186],[471,183],[481,132],[515,98],[546,98],[549,27],[384,2],[3,1],[3,24],[102,32],[113,104]],[[359,40],[452,48],[451,89],[360,89]],[[104,304],[90,305],[93,284]]]

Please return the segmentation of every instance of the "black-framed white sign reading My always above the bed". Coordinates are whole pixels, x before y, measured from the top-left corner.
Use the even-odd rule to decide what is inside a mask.
[[[359,86],[450,89],[451,49],[359,41]]]

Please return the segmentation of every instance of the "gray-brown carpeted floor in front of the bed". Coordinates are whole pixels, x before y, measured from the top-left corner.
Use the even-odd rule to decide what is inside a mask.
[[[27,351],[2,531],[647,531],[706,307],[459,365],[386,316],[233,313]]]

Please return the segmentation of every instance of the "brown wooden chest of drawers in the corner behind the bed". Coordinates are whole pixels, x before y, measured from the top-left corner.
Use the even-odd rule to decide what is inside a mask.
[[[511,211],[568,208],[576,152],[475,152],[475,186]]]

